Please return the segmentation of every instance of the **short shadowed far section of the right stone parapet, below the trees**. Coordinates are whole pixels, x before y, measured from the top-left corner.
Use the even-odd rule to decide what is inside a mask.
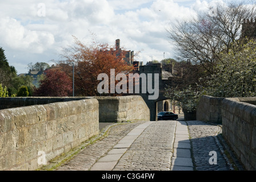
[[[197,107],[197,120],[222,123],[222,97],[202,96]]]

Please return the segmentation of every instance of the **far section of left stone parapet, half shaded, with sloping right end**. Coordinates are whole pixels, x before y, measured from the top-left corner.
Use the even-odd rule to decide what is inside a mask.
[[[150,110],[141,96],[95,97],[99,122],[150,121]]]

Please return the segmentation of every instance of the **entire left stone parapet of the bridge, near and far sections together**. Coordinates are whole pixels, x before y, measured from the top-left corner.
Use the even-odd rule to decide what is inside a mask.
[[[0,98],[0,171],[34,170],[99,134],[99,122],[149,121],[141,96]]]

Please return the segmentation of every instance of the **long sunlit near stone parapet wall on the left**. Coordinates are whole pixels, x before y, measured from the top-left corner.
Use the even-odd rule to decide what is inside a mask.
[[[91,98],[0,110],[0,171],[37,169],[44,154],[47,162],[97,135],[98,107]]]

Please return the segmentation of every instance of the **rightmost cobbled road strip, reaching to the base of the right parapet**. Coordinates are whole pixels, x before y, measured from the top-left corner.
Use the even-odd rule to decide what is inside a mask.
[[[239,163],[236,156],[230,151],[225,140],[223,140],[221,125],[213,125],[202,121],[187,121],[187,125],[190,134],[194,167],[197,171],[243,169],[241,163]],[[225,154],[225,151],[229,152],[230,157]],[[214,156],[216,157],[215,159]],[[210,159],[212,159],[211,164]]]

